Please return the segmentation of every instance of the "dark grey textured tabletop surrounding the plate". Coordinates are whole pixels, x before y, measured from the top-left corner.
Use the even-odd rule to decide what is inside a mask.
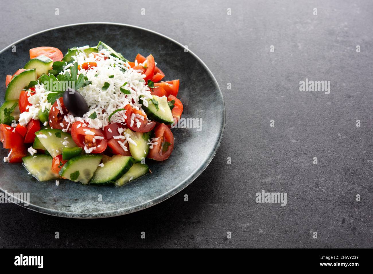
[[[32,11],[29,1],[1,2],[0,48],[70,23],[160,32],[213,72],[226,128],[203,174],[147,210],[70,220],[0,204],[1,247],[373,247],[372,2],[36,2]],[[299,91],[305,78],[331,81],[330,94]],[[287,205],[257,204],[262,190],[286,192]]]

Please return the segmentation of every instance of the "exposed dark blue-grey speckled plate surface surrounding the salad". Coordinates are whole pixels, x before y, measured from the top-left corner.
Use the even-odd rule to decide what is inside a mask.
[[[92,32],[81,29],[91,29]],[[190,50],[159,33],[117,23],[83,23],[38,32],[0,51],[0,79],[14,73],[29,60],[29,49],[40,46],[68,48],[97,45],[101,40],[129,60],[137,53],[153,54],[163,70],[165,80],[181,79],[178,97],[184,104],[184,118],[200,119],[202,130],[173,129],[175,147],[171,157],[162,162],[147,161],[152,174],[115,188],[114,186],[82,186],[60,180],[37,182],[21,164],[0,161],[0,190],[29,192],[31,210],[70,218],[103,218],[128,214],[151,207],[188,186],[202,173],[219,148],[225,126],[222,93],[207,66]],[[152,41],[151,43],[144,41]],[[12,52],[12,46],[16,52]],[[4,101],[5,85],[0,88]],[[0,149],[1,159],[7,150]],[[102,201],[98,201],[102,195]]]

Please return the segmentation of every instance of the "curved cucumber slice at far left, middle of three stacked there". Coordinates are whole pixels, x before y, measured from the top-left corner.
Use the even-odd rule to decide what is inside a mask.
[[[5,100],[18,100],[22,89],[24,89],[25,86],[28,86],[31,81],[36,81],[36,79],[35,69],[25,70],[24,72],[19,73],[19,75],[14,76],[6,88]]]

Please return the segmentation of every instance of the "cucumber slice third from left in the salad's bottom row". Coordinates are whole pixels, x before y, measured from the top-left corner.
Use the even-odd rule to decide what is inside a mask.
[[[123,176],[135,163],[135,159],[129,156],[115,155],[104,164],[98,167],[94,173],[90,184],[102,185],[114,183]]]

